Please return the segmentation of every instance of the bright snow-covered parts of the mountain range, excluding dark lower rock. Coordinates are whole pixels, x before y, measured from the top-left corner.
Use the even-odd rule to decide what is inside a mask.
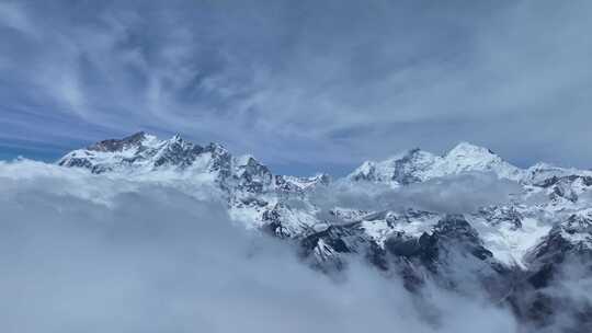
[[[445,216],[413,207],[403,211],[333,207],[328,211],[331,216],[328,219],[308,194],[318,186],[329,186],[332,183],[329,175],[275,175],[252,156],[234,157],[221,145],[200,146],[179,135],[160,140],[137,133],[123,139],[104,140],[73,150],[57,163],[88,169],[96,174],[205,175],[226,194],[232,217],[249,228],[263,228],[278,237],[305,238],[339,225],[340,228],[355,228],[356,233],[362,232],[362,239],[384,249],[391,236],[405,233],[419,238],[435,228]],[[493,173],[523,188],[505,206],[482,207],[466,216],[482,233],[480,237],[497,260],[508,265],[523,265],[526,251],[550,230],[549,218],[578,213],[589,205],[585,195],[592,186],[590,171],[544,163],[520,169],[491,150],[467,142],[457,145],[442,157],[412,149],[382,162],[366,161],[340,184],[355,187],[358,182],[371,182],[405,186],[464,173]],[[325,244],[318,253],[323,251],[339,253],[340,249]],[[327,257],[326,254],[319,256]]]

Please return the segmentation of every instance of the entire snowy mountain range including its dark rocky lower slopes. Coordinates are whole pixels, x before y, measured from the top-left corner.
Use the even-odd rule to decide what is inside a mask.
[[[299,244],[301,257],[322,272],[362,259],[419,294],[428,282],[460,294],[479,288],[492,302],[510,305],[526,325],[545,329],[567,315],[573,319],[569,332],[590,332],[590,303],[562,297],[558,287],[592,277],[590,171],[543,163],[520,169],[463,142],[445,156],[413,149],[366,161],[344,179],[296,177],[273,174],[217,143],[145,133],[71,151],[57,163],[110,177],[206,180],[236,222]],[[481,188],[481,179],[511,184],[512,192],[501,204],[457,214],[403,200],[419,190],[442,200],[460,182]],[[577,277],[569,275],[573,263],[583,267]]]

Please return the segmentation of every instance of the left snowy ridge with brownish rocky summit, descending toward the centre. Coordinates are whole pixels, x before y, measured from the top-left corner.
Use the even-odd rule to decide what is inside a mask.
[[[314,177],[274,176],[267,166],[253,157],[234,157],[221,145],[200,146],[184,140],[180,135],[159,140],[156,136],[143,131],[73,150],[57,163],[89,169],[96,174],[208,174],[225,190],[241,190],[248,193],[270,190],[303,192],[329,182],[325,174]]]

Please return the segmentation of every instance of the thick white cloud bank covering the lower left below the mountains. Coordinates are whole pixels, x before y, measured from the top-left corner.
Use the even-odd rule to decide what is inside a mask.
[[[30,161],[0,163],[0,295],[4,333],[515,330],[362,263],[334,282],[195,193]]]

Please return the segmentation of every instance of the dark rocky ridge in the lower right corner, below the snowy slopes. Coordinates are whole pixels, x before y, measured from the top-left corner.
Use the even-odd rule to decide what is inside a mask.
[[[570,285],[592,277],[592,214],[571,215],[556,225],[526,255],[527,269],[509,296],[516,314],[535,330],[562,322],[563,332],[592,330],[590,298],[572,295]]]

